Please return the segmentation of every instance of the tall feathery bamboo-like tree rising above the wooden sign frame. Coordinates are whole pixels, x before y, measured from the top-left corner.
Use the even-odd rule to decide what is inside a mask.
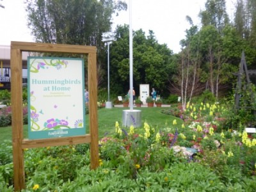
[[[27,0],[28,26],[37,42],[102,45],[111,16],[127,5],[113,0]]]

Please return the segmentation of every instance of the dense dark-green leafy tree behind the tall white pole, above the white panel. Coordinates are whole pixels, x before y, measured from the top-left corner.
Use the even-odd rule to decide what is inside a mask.
[[[116,41],[111,45],[111,81],[118,93],[129,89],[129,26],[116,28]],[[166,82],[170,76],[172,51],[166,44],[158,44],[153,31],[145,36],[142,29],[133,32],[133,82],[134,88],[140,84],[150,84],[157,93],[167,93]]]

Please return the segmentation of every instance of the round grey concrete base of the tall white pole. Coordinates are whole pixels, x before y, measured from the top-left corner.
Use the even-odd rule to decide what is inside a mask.
[[[123,110],[123,125],[125,127],[141,127],[141,110]]]

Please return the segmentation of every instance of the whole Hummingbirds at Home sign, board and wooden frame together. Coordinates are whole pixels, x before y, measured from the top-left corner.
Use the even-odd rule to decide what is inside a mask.
[[[28,138],[23,135],[22,52],[67,53],[78,58],[28,57]],[[86,56],[83,56],[86,54]],[[85,130],[84,60],[88,62],[89,128]],[[24,149],[90,143],[99,166],[96,47],[11,42],[12,147],[15,191],[25,188]]]

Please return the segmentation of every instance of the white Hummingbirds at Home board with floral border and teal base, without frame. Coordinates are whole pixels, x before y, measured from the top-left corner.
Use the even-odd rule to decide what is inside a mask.
[[[86,133],[84,61],[28,57],[29,140]]]

